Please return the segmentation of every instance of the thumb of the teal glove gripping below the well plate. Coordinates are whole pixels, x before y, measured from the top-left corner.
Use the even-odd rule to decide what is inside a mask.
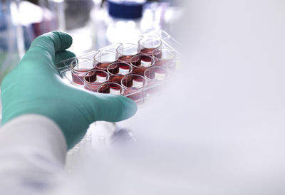
[[[126,120],[137,112],[137,104],[128,97],[120,95],[90,94],[90,100],[84,100],[89,111],[88,120],[104,120],[108,122],[118,122]]]

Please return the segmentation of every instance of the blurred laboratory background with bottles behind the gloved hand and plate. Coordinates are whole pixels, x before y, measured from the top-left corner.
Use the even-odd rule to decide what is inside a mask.
[[[34,38],[48,31],[73,36],[69,49],[88,51],[163,29],[175,36],[182,0],[1,0],[0,80],[24,56]]]

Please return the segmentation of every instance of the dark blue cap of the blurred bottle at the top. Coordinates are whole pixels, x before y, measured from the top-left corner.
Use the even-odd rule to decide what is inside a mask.
[[[142,17],[142,7],[146,1],[108,1],[108,13],[114,18],[120,19],[140,19]]]

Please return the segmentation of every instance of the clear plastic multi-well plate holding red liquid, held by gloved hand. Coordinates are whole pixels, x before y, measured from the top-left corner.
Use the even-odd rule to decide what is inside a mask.
[[[179,52],[180,44],[177,43],[177,41],[175,41],[170,35],[165,33],[165,31],[145,33],[139,39],[131,40],[129,43],[139,45],[140,41],[140,44],[142,44],[142,38],[145,39],[143,40],[145,41],[145,43],[143,43],[145,44],[145,48],[140,45],[138,53],[134,53],[132,54],[133,56],[130,56],[133,58],[125,58],[126,56],[121,54],[123,52],[128,53],[132,44],[125,45],[124,43],[124,46],[122,47],[123,43],[116,43],[105,48],[100,48],[98,51],[91,51],[83,56],[63,60],[56,65],[56,69],[58,70],[58,73],[60,73],[61,78],[63,78],[63,81],[68,83],[68,85],[75,85],[78,88],[90,90],[94,93],[121,94],[125,97],[130,97],[135,100],[135,102],[144,102],[148,95],[152,95],[159,91],[161,86],[171,79],[172,73],[174,73],[177,68],[177,63],[180,63],[181,61],[181,56]],[[158,48],[151,48],[152,45],[156,47],[156,43],[152,43],[151,39],[160,40],[160,44],[157,45]],[[118,49],[119,46],[121,47]],[[112,65],[109,65],[108,70],[106,67],[104,67],[105,69],[102,69],[108,74],[108,76],[104,75],[105,78],[102,79],[102,73],[104,71],[102,73],[100,72],[100,65],[102,64],[100,63],[100,58],[103,59],[103,55],[105,55],[102,51],[104,51],[104,53],[105,51],[115,53],[115,62],[118,62],[118,64],[130,64],[129,66],[132,68],[128,68],[128,70],[131,71],[121,76],[122,78],[125,76],[125,78],[120,78],[119,82],[117,82],[118,80],[115,80],[116,74],[121,75],[125,71],[123,69],[119,70],[118,68],[120,65],[115,64],[111,68],[110,66]],[[155,60],[149,60],[148,58],[150,57],[148,56]],[[170,59],[167,61],[167,58]],[[90,61],[88,63],[90,63],[91,66],[89,65],[90,67],[86,69],[89,70],[88,73],[76,73],[73,63],[83,63],[82,59]],[[124,61],[122,59],[124,59]],[[118,70],[114,67],[117,67]],[[117,72],[114,73],[115,70]],[[104,82],[107,82],[108,85],[101,86],[98,91],[99,84],[103,84]],[[120,91],[116,91],[116,88],[112,87],[115,85],[111,85],[110,82],[120,84],[122,88],[116,85],[120,88]]]

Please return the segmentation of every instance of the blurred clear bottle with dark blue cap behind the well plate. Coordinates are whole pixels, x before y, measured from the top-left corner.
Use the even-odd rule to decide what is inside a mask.
[[[138,38],[142,33],[141,21],[146,1],[108,0],[105,3],[103,9],[96,13],[95,26],[100,37],[97,46],[100,48]]]

